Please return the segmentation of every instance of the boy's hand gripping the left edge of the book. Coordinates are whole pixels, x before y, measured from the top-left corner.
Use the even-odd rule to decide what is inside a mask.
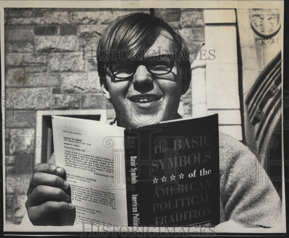
[[[71,188],[64,168],[56,164],[36,164],[25,203],[33,225],[59,225],[58,211],[72,210]]]

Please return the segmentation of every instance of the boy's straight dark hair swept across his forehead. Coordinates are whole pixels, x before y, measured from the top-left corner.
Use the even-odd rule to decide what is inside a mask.
[[[190,82],[191,70],[188,48],[179,31],[173,29],[164,20],[156,16],[140,12],[119,16],[102,31],[97,47],[97,71],[99,77],[103,78],[106,76],[105,63],[107,60],[104,59],[112,57],[111,54],[108,54],[109,57],[107,57],[108,55],[105,55],[104,51],[112,53],[112,49],[126,49],[130,53],[129,58],[140,52],[145,53],[154,44],[161,30],[167,31],[173,37],[177,52],[184,54],[185,57],[181,60],[181,68],[186,80]]]

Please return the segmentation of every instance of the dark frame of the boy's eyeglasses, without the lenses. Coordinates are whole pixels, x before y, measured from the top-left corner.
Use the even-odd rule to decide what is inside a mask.
[[[118,77],[118,76],[116,76],[114,74],[113,69],[112,69],[112,64],[113,64],[113,62],[115,62],[115,60],[108,60],[107,63],[105,64],[106,65],[105,68],[106,69],[109,68],[110,73],[112,74],[112,76],[114,76],[114,78],[118,78],[118,79],[129,79],[129,78],[132,78],[134,76],[134,74],[136,73],[136,70],[137,70],[138,66],[140,66],[140,65],[144,65],[147,68],[147,71],[149,71],[149,73],[151,75],[161,76],[161,75],[166,75],[166,74],[171,73],[173,68],[174,68],[175,62],[179,61],[177,59],[174,59],[174,57],[175,57],[174,55],[166,55],[166,56],[169,56],[168,60],[171,61],[171,68],[170,68],[170,70],[168,72],[162,73],[162,74],[156,74],[156,73],[151,72],[151,70],[149,69],[148,62],[152,61],[152,58],[158,58],[158,57],[161,57],[161,56],[163,56],[163,55],[155,55],[155,56],[149,57],[148,59],[143,59],[143,60],[136,60],[136,59],[128,59],[128,60],[126,60],[126,61],[130,60],[130,61],[136,62],[135,63],[135,68],[134,68],[134,73],[132,75],[130,75],[129,77]]]

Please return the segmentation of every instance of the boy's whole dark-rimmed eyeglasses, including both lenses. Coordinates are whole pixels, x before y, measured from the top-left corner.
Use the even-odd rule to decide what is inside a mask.
[[[158,55],[144,60],[109,60],[107,65],[111,74],[118,79],[134,76],[139,65],[144,65],[152,75],[165,75],[172,71],[175,59],[171,55]]]

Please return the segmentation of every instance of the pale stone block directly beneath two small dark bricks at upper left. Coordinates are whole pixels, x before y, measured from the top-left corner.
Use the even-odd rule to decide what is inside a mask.
[[[35,36],[35,48],[38,52],[75,51],[76,35]]]

